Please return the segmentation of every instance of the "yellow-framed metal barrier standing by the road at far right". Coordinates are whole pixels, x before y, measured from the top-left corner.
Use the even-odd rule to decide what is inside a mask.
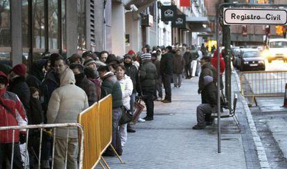
[[[284,96],[287,71],[245,71],[241,73],[241,94],[245,97]]]

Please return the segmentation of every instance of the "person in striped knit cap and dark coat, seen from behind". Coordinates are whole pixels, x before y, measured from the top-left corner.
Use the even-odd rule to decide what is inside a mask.
[[[153,121],[153,94],[155,92],[155,79],[157,78],[157,68],[151,62],[150,53],[143,53],[141,55],[143,64],[139,68],[140,89],[139,96],[142,96],[144,103],[146,103],[146,121]],[[140,91],[141,90],[141,91]]]

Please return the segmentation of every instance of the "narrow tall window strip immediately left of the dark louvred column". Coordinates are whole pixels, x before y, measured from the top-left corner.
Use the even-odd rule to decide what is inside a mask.
[[[77,0],[78,14],[78,50],[86,48],[85,0]]]

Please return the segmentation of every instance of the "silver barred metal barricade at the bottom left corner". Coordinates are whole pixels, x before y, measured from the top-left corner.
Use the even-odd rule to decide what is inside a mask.
[[[51,168],[54,167],[54,154],[55,154],[55,134],[57,132],[58,128],[64,127],[67,129],[67,143],[69,141],[69,130],[70,129],[75,129],[75,127],[78,128],[78,133],[79,133],[79,163],[78,166],[80,169],[82,169],[82,158],[83,158],[83,143],[84,143],[84,131],[82,130],[82,126],[78,123],[61,123],[61,124],[45,124],[45,125],[24,125],[24,126],[7,126],[7,127],[0,127],[0,130],[12,130],[12,155],[11,155],[11,161],[10,161],[10,168],[13,168],[13,160],[14,160],[14,147],[15,147],[15,130],[26,130],[26,150],[25,152],[28,151],[28,142],[29,142],[29,130],[40,130],[40,143],[39,143],[39,154],[37,155],[38,159],[38,166],[37,168],[41,168],[41,152],[42,152],[42,136],[43,132],[46,132],[46,128],[51,128],[53,130],[53,152],[52,152],[52,166]],[[67,168],[67,155],[68,155],[68,144],[66,146],[66,152],[65,152],[65,168]],[[30,153],[30,152],[29,152]],[[27,166],[26,163],[28,163],[28,153],[24,153],[25,158],[24,158],[24,166]]]

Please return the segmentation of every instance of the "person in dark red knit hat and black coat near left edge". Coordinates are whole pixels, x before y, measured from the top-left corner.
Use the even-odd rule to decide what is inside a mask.
[[[26,112],[29,112],[31,94],[28,84],[26,83],[26,71],[27,69],[25,64],[17,64],[12,68],[12,71],[8,75],[10,80],[8,91],[17,94],[21,103],[23,103]]]

